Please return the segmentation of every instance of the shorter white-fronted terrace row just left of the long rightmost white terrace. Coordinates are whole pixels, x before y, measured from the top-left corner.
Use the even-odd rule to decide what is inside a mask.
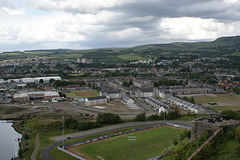
[[[161,102],[159,99],[156,99],[154,97],[145,98],[145,102],[150,106],[155,107],[159,113],[168,112],[171,110],[171,108],[168,105],[166,105],[165,103]]]

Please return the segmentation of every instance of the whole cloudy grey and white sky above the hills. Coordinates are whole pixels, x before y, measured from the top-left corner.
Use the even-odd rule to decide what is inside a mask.
[[[0,0],[0,52],[240,35],[240,0]]]

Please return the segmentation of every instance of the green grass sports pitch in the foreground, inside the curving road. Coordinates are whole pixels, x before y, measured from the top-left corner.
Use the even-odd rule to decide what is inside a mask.
[[[134,141],[133,158],[145,160],[157,156],[173,140],[179,138],[182,130],[169,127],[154,128],[126,136],[113,137],[104,141],[89,143],[72,148],[86,156],[96,159],[97,155],[108,160],[125,160],[131,157],[131,141],[127,136],[137,136]]]

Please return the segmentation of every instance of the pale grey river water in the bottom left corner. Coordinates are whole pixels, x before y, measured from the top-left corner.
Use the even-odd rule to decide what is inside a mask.
[[[12,157],[17,157],[19,142],[22,137],[12,127],[12,123],[0,121],[0,159],[11,160]]]

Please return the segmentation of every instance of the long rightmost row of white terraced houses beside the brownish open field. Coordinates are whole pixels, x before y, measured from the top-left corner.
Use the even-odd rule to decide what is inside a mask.
[[[184,101],[184,100],[174,97],[174,96],[167,98],[167,101],[171,104],[175,104],[175,105],[179,106],[180,108],[182,108],[184,110],[190,110],[191,112],[193,112],[195,114],[204,114],[205,113],[205,109],[202,108],[201,106]]]

